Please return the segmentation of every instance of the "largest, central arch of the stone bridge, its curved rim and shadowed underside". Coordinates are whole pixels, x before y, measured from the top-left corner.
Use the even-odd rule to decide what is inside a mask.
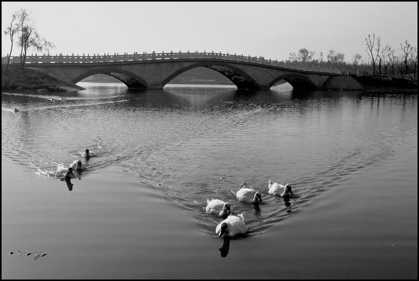
[[[186,66],[173,72],[171,75],[169,75],[166,79],[163,80],[162,84],[166,85],[179,74],[198,67],[206,67],[223,74],[224,76],[229,78],[229,80],[232,83],[234,83],[234,85],[236,85],[236,87],[239,89],[259,88],[259,84],[252,77],[250,77],[248,73],[237,67],[232,66],[229,63],[224,63],[220,61],[205,61],[190,64],[189,66]]]

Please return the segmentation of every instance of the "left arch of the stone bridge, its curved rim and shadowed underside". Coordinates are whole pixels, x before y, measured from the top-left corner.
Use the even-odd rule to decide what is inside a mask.
[[[107,74],[109,76],[115,77],[116,79],[123,82],[125,85],[128,86],[128,88],[147,88],[148,83],[142,79],[141,77],[135,75],[134,73],[122,70],[114,67],[108,67],[108,68],[98,68],[94,70],[89,70],[87,72],[84,72],[83,74],[78,75],[76,78],[74,78],[71,83],[76,84],[77,82],[80,82],[86,77],[92,76],[94,74]]]

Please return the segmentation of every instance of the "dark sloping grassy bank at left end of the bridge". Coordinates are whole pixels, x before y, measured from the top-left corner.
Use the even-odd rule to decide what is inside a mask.
[[[19,65],[9,65],[7,76],[5,74],[6,66],[1,65],[1,90],[15,90],[19,87],[23,90],[37,90],[48,87],[84,89],[75,84],[58,80],[38,70],[30,68],[21,70]]]

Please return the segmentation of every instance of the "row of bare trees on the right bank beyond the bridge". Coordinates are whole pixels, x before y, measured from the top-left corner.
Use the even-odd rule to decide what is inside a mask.
[[[343,53],[330,49],[324,58],[323,52],[317,56],[315,51],[300,49],[298,53],[289,53],[285,61],[302,66],[336,68],[343,74],[356,74],[357,70],[364,70],[368,74],[382,76],[397,76],[412,80],[418,79],[418,47],[411,46],[407,40],[404,45],[400,43],[399,49],[393,49],[389,44],[381,48],[380,37],[373,34],[365,38],[368,57],[363,59],[362,54],[355,54],[345,61]]]

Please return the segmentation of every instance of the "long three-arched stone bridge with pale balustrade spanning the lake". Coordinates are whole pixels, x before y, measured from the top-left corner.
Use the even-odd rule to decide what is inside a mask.
[[[7,64],[7,57],[2,58]],[[20,63],[11,57],[10,63]],[[124,55],[30,55],[25,66],[76,84],[93,74],[111,75],[129,88],[161,89],[177,75],[207,67],[225,75],[239,89],[269,89],[279,80],[293,88],[323,89],[330,80],[343,77],[336,69],[296,66],[264,58],[223,53],[143,53]]]

